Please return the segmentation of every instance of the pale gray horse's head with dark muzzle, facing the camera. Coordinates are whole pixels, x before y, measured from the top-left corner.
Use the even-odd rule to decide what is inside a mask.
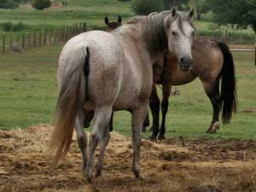
[[[184,14],[173,7],[171,14],[166,16],[164,20],[168,49],[171,53],[177,55],[179,67],[182,71],[189,71],[193,61],[191,47],[195,27],[191,19],[194,13],[194,9],[190,9],[189,14]]]

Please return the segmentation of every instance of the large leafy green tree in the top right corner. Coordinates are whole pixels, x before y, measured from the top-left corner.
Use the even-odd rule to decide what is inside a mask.
[[[218,24],[252,26],[256,32],[256,0],[207,0]]]

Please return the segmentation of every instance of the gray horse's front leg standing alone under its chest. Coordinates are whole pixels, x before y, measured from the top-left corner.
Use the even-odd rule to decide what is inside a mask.
[[[132,146],[133,166],[132,171],[136,177],[141,177],[140,169],[140,146],[143,121],[148,112],[148,102],[138,103],[139,108],[132,110]]]

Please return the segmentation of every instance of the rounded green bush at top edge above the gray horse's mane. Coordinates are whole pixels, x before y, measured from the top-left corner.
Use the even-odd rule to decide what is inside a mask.
[[[163,3],[155,0],[132,0],[131,9],[137,15],[148,15],[154,11],[162,10]]]

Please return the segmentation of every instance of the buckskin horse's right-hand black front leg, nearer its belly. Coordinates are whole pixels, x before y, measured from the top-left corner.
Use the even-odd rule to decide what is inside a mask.
[[[169,107],[169,96],[171,94],[172,84],[163,84],[162,91],[163,91],[163,100],[161,102],[161,111],[162,111],[162,122],[160,127],[160,135],[159,139],[165,139],[166,133],[166,113]]]

